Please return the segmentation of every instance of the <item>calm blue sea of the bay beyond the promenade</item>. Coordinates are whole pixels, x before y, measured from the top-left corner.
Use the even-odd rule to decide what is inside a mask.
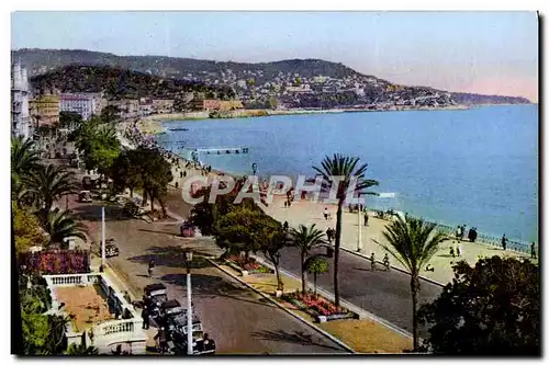
[[[184,127],[188,132],[169,132]],[[248,155],[201,155],[233,173],[310,174],[325,155],[368,162],[380,182],[369,207],[520,240],[538,233],[538,106],[369,112],[169,122],[158,140],[187,148],[246,146]]]

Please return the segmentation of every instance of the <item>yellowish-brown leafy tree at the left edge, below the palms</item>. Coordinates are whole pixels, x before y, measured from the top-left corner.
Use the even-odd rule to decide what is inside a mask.
[[[11,214],[18,253],[26,252],[31,247],[43,246],[46,242],[35,215],[27,209],[20,208],[15,202],[11,202]]]

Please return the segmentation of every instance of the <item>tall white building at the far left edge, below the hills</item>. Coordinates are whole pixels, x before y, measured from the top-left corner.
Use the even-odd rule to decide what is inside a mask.
[[[29,114],[29,77],[20,62],[11,69],[11,132],[12,135],[30,138],[33,128]]]

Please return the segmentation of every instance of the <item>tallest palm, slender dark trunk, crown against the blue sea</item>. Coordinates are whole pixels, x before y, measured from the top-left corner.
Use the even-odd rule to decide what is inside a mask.
[[[329,158],[326,156],[322,161],[322,167],[313,167],[317,171],[324,182],[324,187],[332,187],[333,184],[337,185],[337,218],[336,218],[336,237],[335,237],[335,252],[334,252],[334,296],[335,305],[339,306],[339,281],[338,281],[338,269],[339,269],[339,247],[341,244],[341,215],[343,206],[347,199],[347,194],[349,193],[349,187],[354,187],[355,193],[377,195],[377,193],[365,192],[365,189],[370,186],[379,185],[376,180],[365,180],[365,172],[368,168],[368,163],[362,164],[357,168],[358,157],[348,157],[340,153],[334,153],[334,157]],[[351,183],[356,184],[352,186]]]

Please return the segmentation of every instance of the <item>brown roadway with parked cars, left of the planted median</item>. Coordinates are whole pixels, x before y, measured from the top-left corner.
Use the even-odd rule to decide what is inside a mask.
[[[65,202],[64,202],[65,203]],[[69,199],[69,208],[89,221],[90,236],[100,232],[99,204],[82,205]],[[116,208],[107,208],[107,237],[119,241],[121,254],[109,259],[131,288],[153,283],[147,265],[155,260],[157,281],[168,287],[169,297],[186,303],[186,270],[182,246],[192,247],[199,255],[210,254],[212,244],[176,237],[178,225],[147,224],[123,219]],[[97,248],[94,248],[97,249]],[[209,251],[210,250],[210,251]],[[336,343],[301,323],[278,307],[267,303],[238,282],[225,275],[200,256],[192,274],[193,303],[204,330],[217,344],[220,354],[321,354],[345,353]]]

